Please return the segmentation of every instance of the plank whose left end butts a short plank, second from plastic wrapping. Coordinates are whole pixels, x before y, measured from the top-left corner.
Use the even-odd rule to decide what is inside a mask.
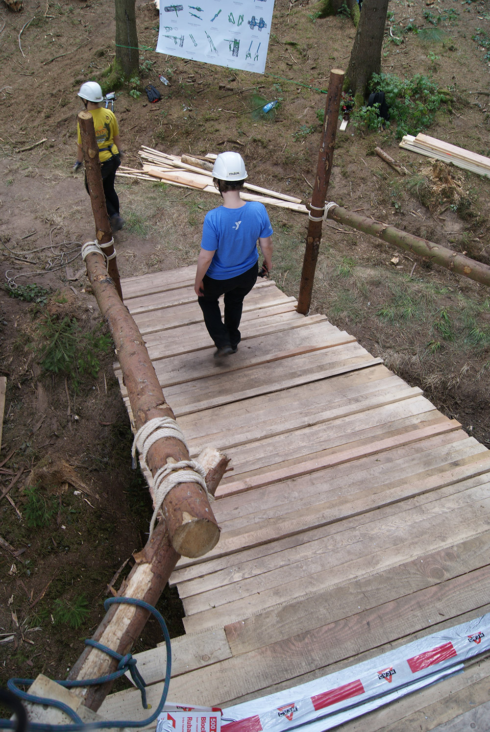
[[[457,509],[454,512],[456,511]],[[423,531],[423,518],[417,523],[420,523],[420,526],[417,526],[419,531]],[[450,523],[445,522],[441,529],[451,525],[458,527],[456,516],[452,517]],[[352,608],[364,612],[398,597],[409,597],[416,591],[457,578],[480,567],[488,567],[490,557],[488,527],[489,516],[486,515],[486,520],[480,522],[479,528],[482,533],[462,541],[453,541],[447,536],[445,546],[434,551],[431,551],[431,547],[437,545],[437,539],[432,537],[427,553],[414,555],[412,550],[405,555],[406,561],[400,562],[398,559],[397,563],[393,557],[391,565],[377,564],[376,559],[383,550],[377,547],[376,542],[377,556],[373,563],[375,568],[371,571],[367,569],[362,575],[349,572],[345,582],[340,578],[336,583],[334,581],[330,583],[327,589],[315,593],[308,591],[298,599],[286,600],[281,605],[275,605],[252,616],[244,616],[243,620],[227,625],[225,630],[231,653],[237,656],[260,649],[299,632],[307,632],[327,622],[341,620],[352,613]],[[459,529],[461,533],[461,522]],[[403,550],[407,543],[394,545],[399,556],[404,556]],[[388,547],[389,542],[385,542],[385,545]]]

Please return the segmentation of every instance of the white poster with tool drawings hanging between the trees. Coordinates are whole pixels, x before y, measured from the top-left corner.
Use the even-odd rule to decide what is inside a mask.
[[[263,74],[274,0],[160,0],[157,51]]]

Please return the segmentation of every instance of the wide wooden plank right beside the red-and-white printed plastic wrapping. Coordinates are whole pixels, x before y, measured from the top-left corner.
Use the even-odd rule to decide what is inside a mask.
[[[216,664],[212,673],[207,668],[178,676],[171,680],[168,701],[182,703],[191,698],[196,704],[226,706],[237,703],[245,695],[270,693],[271,689],[276,690],[276,684],[286,682],[292,687],[301,683],[305,674],[314,672],[318,677],[331,673],[333,664],[352,665],[366,651],[375,651],[377,655],[388,643],[392,644],[390,647],[393,643],[404,645],[414,640],[414,634],[422,631],[422,635],[427,635],[428,628],[434,633],[439,628],[456,625],[463,621],[464,613],[479,616],[489,602],[488,568],[468,572],[287,641],[231,657]],[[443,618],[444,623],[434,622],[437,618]],[[157,703],[159,692],[161,684],[149,688],[149,703]],[[137,698],[138,692],[132,694]],[[100,708],[105,716],[109,716],[109,699]]]

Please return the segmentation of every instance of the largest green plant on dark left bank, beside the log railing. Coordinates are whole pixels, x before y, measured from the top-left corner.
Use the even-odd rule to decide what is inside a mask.
[[[98,333],[100,326],[92,332],[82,333],[75,318],[65,316],[62,320],[45,316],[40,333],[45,343],[40,346],[40,364],[45,371],[64,373],[73,378],[78,390],[81,376],[95,378],[100,369],[97,353],[107,353],[111,337]]]

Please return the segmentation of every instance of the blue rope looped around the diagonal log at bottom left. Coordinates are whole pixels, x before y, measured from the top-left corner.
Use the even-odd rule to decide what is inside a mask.
[[[105,600],[104,602],[104,608],[105,610],[108,610],[110,605],[114,605],[114,603],[125,603],[127,605],[138,605],[139,608],[144,608],[144,610],[148,610],[150,613],[152,613],[157,621],[160,624],[160,627],[163,631],[163,638],[165,638],[165,645],[166,645],[166,670],[165,670],[165,682],[163,684],[163,691],[162,695],[160,697],[160,702],[158,703],[157,708],[155,709],[155,712],[151,715],[151,717],[148,717],[146,720],[141,720],[141,722],[133,722],[133,721],[116,721],[116,722],[109,722],[109,721],[101,721],[101,722],[91,722],[89,724],[85,724],[82,722],[81,718],[78,716],[76,712],[73,711],[73,709],[70,708],[70,706],[67,706],[67,704],[64,704],[61,701],[57,701],[56,699],[46,699],[40,696],[31,695],[28,692],[24,692],[21,689],[18,688],[18,684],[21,686],[27,686],[29,687],[34,681],[33,679],[10,679],[7,681],[7,688],[12,691],[15,695],[17,695],[19,698],[23,699],[24,701],[29,701],[31,703],[35,704],[44,704],[49,706],[54,706],[56,709],[60,709],[62,712],[68,715],[71,720],[73,720],[73,724],[65,724],[65,725],[48,725],[48,724],[42,724],[41,722],[32,722],[29,723],[29,730],[33,731],[39,731],[39,732],[77,732],[78,730],[92,730],[92,729],[108,729],[108,728],[124,728],[124,727],[146,727],[147,725],[151,724],[153,721],[156,720],[158,717],[158,714],[163,709],[163,705],[166,702],[166,698],[168,695],[168,686],[170,684],[170,675],[171,675],[171,643],[170,643],[170,635],[168,635],[168,630],[166,627],[166,623],[163,619],[163,617],[160,615],[158,610],[156,608],[152,607],[152,605],[149,605],[148,602],[144,602],[144,600],[136,600],[133,597],[110,597],[108,600]],[[61,684],[63,687],[72,688],[72,687],[86,687],[86,686],[94,686],[95,684],[105,684],[107,681],[114,681],[114,679],[119,679],[120,676],[123,676],[126,671],[129,671],[131,674],[131,678],[136,684],[136,687],[141,692],[141,703],[143,705],[144,709],[148,709],[148,705],[146,703],[146,692],[144,690],[144,687],[146,687],[146,683],[141,676],[141,673],[139,673],[138,669],[136,668],[136,659],[134,659],[130,653],[127,653],[125,656],[122,656],[119,653],[116,653],[116,651],[113,651],[112,649],[108,648],[107,646],[103,646],[101,643],[98,643],[97,641],[92,641],[92,639],[88,639],[85,641],[86,646],[93,646],[94,648],[99,649],[100,651],[104,651],[112,658],[116,659],[118,661],[118,670],[114,671],[113,673],[108,673],[105,676],[100,676],[98,679],[82,679],[82,680],[74,680],[74,681],[57,681],[58,684]],[[0,720],[0,729],[15,729],[15,722],[11,720]]]

